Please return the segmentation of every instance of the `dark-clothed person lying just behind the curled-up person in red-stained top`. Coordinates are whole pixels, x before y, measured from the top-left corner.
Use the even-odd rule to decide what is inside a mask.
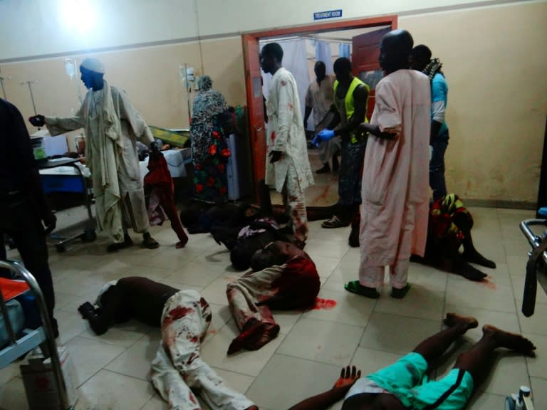
[[[249,269],[254,253],[269,243],[288,241],[277,222],[269,217],[256,218],[246,226],[214,225],[211,234],[217,243],[228,248],[231,265],[236,270]]]

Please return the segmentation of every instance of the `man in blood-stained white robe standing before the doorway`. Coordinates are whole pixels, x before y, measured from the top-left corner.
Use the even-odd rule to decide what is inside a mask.
[[[294,244],[303,248],[308,238],[304,190],[313,184],[313,175],[296,81],[281,66],[282,59],[283,48],[278,43],[268,43],[262,48],[262,70],[273,75],[266,102],[270,133],[266,138],[266,184],[283,193],[283,203],[291,218]]]

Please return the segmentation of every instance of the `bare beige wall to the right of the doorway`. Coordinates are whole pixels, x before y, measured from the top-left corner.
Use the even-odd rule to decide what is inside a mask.
[[[404,16],[449,84],[447,188],[535,203],[547,118],[547,2]]]

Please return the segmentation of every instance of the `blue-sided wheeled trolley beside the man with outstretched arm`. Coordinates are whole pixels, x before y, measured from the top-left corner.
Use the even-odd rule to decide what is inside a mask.
[[[83,192],[85,198],[88,218],[83,221],[83,232],[80,231],[79,233],[73,233],[68,236],[65,236],[61,231],[53,232],[51,237],[58,240],[55,243],[57,252],[61,253],[66,251],[66,245],[78,239],[81,239],[84,242],[95,241],[97,234],[95,233],[95,219],[93,218],[93,212],[91,211],[90,190],[85,183],[85,175],[79,159],[59,158],[41,160],[38,162],[38,166],[43,189],[46,194],[51,192]],[[71,168],[72,172],[51,172],[52,169],[62,169],[63,167]],[[81,223],[78,225],[80,226]]]

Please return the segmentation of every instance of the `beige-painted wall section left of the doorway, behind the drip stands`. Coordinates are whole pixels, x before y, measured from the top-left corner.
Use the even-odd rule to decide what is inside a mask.
[[[179,76],[179,65],[187,63],[195,74],[207,73],[214,88],[226,97],[229,105],[245,103],[245,84],[241,38],[220,41],[179,43],[134,50],[95,53],[105,65],[105,79],[127,92],[133,105],[148,124],[158,127],[187,128],[189,126],[187,93]],[[86,55],[71,56],[80,61]],[[203,67],[202,67],[203,61]],[[79,73],[71,78],[65,72],[64,58],[22,61],[1,65],[7,98],[24,117],[33,115],[31,96],[26,80],[36,81],[33,87],[36,110],[43,115],[67,116],[78,110],[78,90],[85,95]],[[192,90],[191,99],[195,92]],[[29,132],[36,128],[28,125]]]

